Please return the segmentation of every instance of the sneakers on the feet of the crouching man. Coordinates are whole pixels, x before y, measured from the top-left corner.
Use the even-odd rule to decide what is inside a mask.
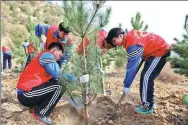
[[[36,114],[34,109],[32,111],[32,116],[37,119],[38,121],[42,122],[45,125],[52,125],[52,120],[46,116],[42,116],[39,114]]]

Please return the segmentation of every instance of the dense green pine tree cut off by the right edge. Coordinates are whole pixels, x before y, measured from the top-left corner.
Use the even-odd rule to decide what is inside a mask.
[[[174,72],[188,77],[188,15],[185,17],[184,30],[181,40],[174,38],[176,44],[172,50],[175,54],[169,60]]]

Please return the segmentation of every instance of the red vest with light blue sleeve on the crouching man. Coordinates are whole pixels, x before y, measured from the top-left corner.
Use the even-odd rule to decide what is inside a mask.
[[[31,91],[33,87],[45,84],[51,78],[59,79],[60,76],[61,70],[53,53],[44,50],[24,69],[19,77],[17,88],[22,91]]]

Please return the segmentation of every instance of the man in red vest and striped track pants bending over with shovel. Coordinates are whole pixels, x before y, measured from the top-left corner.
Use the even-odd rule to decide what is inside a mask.
[[[140,78],[141,103],[135,111],[141,114],[152,114],[154,109],[154,79],[159,75],[170,56],[169,45],[160,36],[131,30],[127,34],[121,28],[113,28],[109,31],[105,41],[109,48],[123,46],[127,51],[128,63],[126,77],[124,79],[124,93],[130,92],[133,79],[140,60],[145,60]]]

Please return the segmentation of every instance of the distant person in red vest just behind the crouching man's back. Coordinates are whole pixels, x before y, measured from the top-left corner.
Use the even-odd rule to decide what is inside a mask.
[[[36,48],[34,46],[34,43],[31,41],[29,42],[29,45],[27,47],[27,59],[25,67],[31,62],[31,60],[36,56]]]

